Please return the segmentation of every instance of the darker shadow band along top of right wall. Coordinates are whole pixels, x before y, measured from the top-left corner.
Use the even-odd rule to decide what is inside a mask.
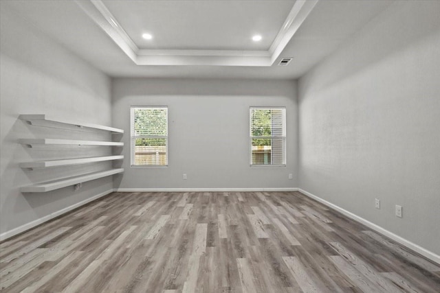
[[[440,6],[439,3],[436,5]],[[407,3],[396,1],[382,14],[372,19],[355,38],[347,40],[347,43],[342,44],[336,53],[318,63],[301,78],[300,97],[307,98],[308,91],[312,89],[309,83],[311,80],[313,80],[314,92],[327,89],[333,84],[341,84],[347,78],[352,79],[356,73],[375,67],[382,60],[439,34],[438,10],[432,9],[432,5],[421,4],[416,4],[419,9],[414,10],[412,5],[415,4],[410,1]],[[431,14],[437,14],[437,22],[420,21],[435,19],[430,17]],[[316,70],[317,67],[320,68],[319,71]]]

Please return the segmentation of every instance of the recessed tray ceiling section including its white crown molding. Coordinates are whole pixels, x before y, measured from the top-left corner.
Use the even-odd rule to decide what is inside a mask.
[[[76,2],[136,65],[269,67],[318,0]]]

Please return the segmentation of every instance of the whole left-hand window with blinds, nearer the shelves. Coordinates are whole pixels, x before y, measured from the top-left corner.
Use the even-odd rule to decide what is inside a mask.
[[[131,107],[131,165],[168,165],[167,107]]]

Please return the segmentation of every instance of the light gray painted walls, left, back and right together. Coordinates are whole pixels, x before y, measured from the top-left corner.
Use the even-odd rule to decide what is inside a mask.
[[[111,102],[107,76],[2,7],[0,233],[113,187],[102,178],[80,191],[19,193],[23,185],[110,167],[20,169],[22,161],[111,153],[23,148],[17,139],[110,139],[17,120],[45,113],[126,130],[126,172],[114,177],[117,188],[301,187],[439,254],[439,10],[439,1],[397,1],[300,79],[298,105],[296,82],[270,80],[116,78]],[[168,168],[129,166],[131,105],[169,107]],[[287,107],[286,168],[249,167],[250,106]],[[382,209],[374,209],[374,198]],[[395,204],[404,218],[394,216]]]

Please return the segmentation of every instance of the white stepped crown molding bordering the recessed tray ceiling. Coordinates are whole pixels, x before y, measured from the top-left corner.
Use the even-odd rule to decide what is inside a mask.
[[[139,49],[101,0],[78,1],[85,13],[135,65],[214,65],[270,67],[319,0],[297,0],[267,51]]]

